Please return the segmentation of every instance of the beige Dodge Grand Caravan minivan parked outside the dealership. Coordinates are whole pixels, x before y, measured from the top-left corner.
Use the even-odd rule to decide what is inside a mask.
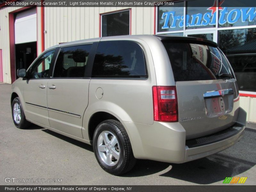
[[[111,174],[135,159],[183,163],[242,136],[234,72],[212,41],[115,36],[45,50],[12,84],[16,127],[34,123],[93,145]]]

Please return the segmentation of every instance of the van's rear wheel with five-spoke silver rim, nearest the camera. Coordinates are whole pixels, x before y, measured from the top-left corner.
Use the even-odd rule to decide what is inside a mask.
[[[130,171],[136,163],[128,134],[116,120],[103,121],[96,127],[93,150],[101,168],[113,175]]]

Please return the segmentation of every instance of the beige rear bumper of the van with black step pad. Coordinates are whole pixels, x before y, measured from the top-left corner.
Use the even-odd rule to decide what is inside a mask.
[[[243,110],[239,111],[239,116],[244,116]],[[240,118],[224,131],[186,141],[186,131],[179,122],[154,122],[153,125],[122,123],[131,140],[135,158],[169,163],[184,163],[222,151],[239,141],[245,129],[244,118]]]

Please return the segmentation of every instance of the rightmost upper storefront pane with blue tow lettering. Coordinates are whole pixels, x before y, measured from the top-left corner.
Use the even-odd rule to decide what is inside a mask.
[[[256,25],[256,7],[246,7],[246,0],[225,0],[220,2],[219,27],[240,27]],[[230,5],[234,7],[230,7]],[[241,5],[244,5],[241,6]]]

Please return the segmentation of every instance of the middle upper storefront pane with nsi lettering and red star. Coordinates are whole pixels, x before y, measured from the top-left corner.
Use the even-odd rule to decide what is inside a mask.
[[[186,29],[212,28],[216,26],[215,0],[187,1]],[[196,7],[201,5],[202,7]],[[205,6],[205,7],[203,7]]]

